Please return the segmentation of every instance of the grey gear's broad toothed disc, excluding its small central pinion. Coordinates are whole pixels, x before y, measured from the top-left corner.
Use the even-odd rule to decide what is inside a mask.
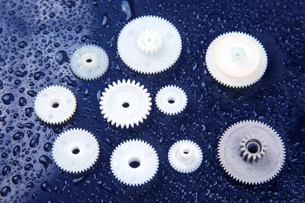
[[[240,144],[247,136],[264,142],[265,154],[258,161],[245,161]],[[226,173],[245,184],[262,184],[275,178],[285,163],[285,146],[279,134],[260,121],[240,121],[221,136],[218,158]]]

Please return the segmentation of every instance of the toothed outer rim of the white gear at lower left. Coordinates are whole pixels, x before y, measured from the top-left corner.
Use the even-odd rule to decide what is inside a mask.
[[[56,155],[54,156],[54,149],[56,148],[56,142],[57,142],[59,139],[61,139],[61,138],[64,136],[64,134],[66,134],[66,133],[68,134],[68,133],[71,132],[71,131],[82,131],[82,132],[85,132],[85,133],[86,133],[86,136],[88,136],[90,139],[92,139],[93,142],[95,142],[95,143],[97,144],[97,146],[98,146],[98,151],[97,151],[97,154],[96,154],[96,156],[95,156],[94,162],[89,163],[87,166],[84,166],[84,167],[82,168],[82,170],[77,170],[77,171],[75,171],[75,170],[67,170],[67,168],[66,168],[64,165],[62,165],[62,164],[60,164],[60,163],[58,162],[58,160],[57,160],[57,158],[56,158]],[[57,150],[58,150],[58,149],[57,149]],[[99,153],[100,153],[100,146],[99,146],[99,143],[98,143],[97,139],[95,138],[95,136],[93,136],[93,134],[90,133],[88,130],[84,130],[84,129],[81,129],[81,128],[68,129],[67,131],[63,132],[62,134],[60,134],[59,137],[56,138],[56,140],[55,140],[54,143],[53,143],[53,147],[52,147],[52,157],[53,157],[53,160],[54,160],[54,162],[56,163],[56,165],[57,165],[61,170],[63,170],[64,172],[68,172],[68,173],[72,173],[72,174],[83,173],[83,172],[89,170],[90,168],[92,168],[92,167],[95,165],[95,163],[97,162],[98,158],[99,158]]]

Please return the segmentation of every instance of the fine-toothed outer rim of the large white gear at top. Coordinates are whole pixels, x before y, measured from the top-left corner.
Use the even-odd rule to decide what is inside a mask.
[[[136,21],[136,20],[138,20],[138,19],[141,19],[141,18],[148,18],[148,17],[149,17],[149,18],[158,18],[158,19],[161,19],[161,20],[164,20],[164,21],[168,22],[168,23],[177,31],[177,33],[178,33],[178,35],[179,35],[179,42],[178,42],[178,43],[180,44],[180,49],[179,49],[180,51],[179,51],[179,54],[177,55],[177,57],[174,58],[174,59],[172,60],[171,64],[170,64],[168,67],[166,67],[165,69],[163,69],[163,70],[153,71],[153,72],[144,72],[144,71],[140,71],[140,70],[134,69],[134,67],[131,66],[131,65],[128,63],[128,61],[126,61],[124,58],[121,57],[121,52],[120,52],[120,49],[119,49],[119,48],[117,49],[117,51],[118,51],[118,55],[120,56],[121,60],[123,60],[123,62],[124,62],[130,69],[134,70],[135,72],[138,72],[138,73],[141,73],[141,74],[158,74],[158,73],[162,73],[162,72],[168,70],[173,64],[175,64],[175,62],[178,60],[178,58],[179,58],[179,56],[180,56],[180,54],[181,54],[181,50],[182,50],[182,40],[181,40],[181,36],[180,36],[180,33],[179,33],[178,29],[177,29],[171,22],[169,22],[168,20],[166,20],[166,19],[164,19],[164,18],[162,18],[162,17],[155,16],[155,15],[148,15],[148,16],[140,16],[140,17],[138,17],[138,18],[135,18],[135,19],[129,21],[129,22],[123,27],[123,29],[120,31],[120,33],[123,32],[123,30],[126,28],[126,26],[129,25],[131,22],[134,22],[134,21]],[[120,37],[120,33],[119,33],[119,35],[118,35],[118,37],[117,37],[117,47],[120,46],[120,44],[119,44],[120,38],[121,38],[121,37]]]

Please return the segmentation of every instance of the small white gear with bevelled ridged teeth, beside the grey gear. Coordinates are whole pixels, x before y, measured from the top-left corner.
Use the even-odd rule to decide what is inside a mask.
[[[189,140],[180,140],[168,151],[168,160],[174,170],[189,174],[197,170],[202,162],[200,147]]]

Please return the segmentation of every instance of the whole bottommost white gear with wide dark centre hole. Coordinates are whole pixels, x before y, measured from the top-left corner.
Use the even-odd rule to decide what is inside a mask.
[[[132,165],[136,163],[136,165]],[[112,152],[110,167],[121,183],[139,186],[155,177],[159,167],[156,150],[141,140],[129,140],[119,144]]]

